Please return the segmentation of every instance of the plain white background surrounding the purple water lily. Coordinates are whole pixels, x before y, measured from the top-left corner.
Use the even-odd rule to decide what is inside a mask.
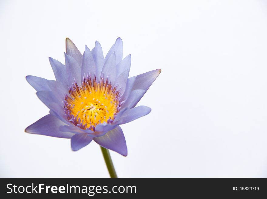
[[[1,0],[0,29],[0,177],[109,177],[96,143],[24,132],[49,111],[25,76],[54,79],[66,37],[104,55],[121,37],[130,76],[162,70],[119,177],[267,177],[266,1]]]

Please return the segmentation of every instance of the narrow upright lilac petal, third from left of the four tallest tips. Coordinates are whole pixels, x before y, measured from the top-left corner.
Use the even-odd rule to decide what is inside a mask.
[[[98,41],[96,41],[96,47],[94,47],[91,51],[93,58],[96,64],[96,80],[100,80],[101,71],[104,65],[104,55],[102,51],[102,47]]]

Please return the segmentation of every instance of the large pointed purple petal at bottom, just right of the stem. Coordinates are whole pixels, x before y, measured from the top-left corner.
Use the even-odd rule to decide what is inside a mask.
[[[107,132],[105,135],[101,137],[93,139],[100,146],[116,151],[124,156],[127,156],[126,141],[120,126],[117,126],[116,128]]]

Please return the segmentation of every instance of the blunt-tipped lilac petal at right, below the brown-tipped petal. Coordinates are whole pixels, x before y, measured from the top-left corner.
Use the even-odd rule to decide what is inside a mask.
[[[131,109],[126,110],[122,116],[120,117],[118,124],[125,124],[130,121],[133,121],[137,118],[140,118],[144,115],[149,114],[151,111],[151,108],[147,106],[137,106]]]

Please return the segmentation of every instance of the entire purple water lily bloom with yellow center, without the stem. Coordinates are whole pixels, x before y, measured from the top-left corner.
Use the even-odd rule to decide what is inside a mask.
[[[101,45],[83,55],[66,38],[65,62],[49,58],[56,81],[36,76],[26,80],[50,113],[25,129],[25,132],[59,138],[71,138],[77,151],[92,140],[104,148],[127,155],[126,141],[120,124],[150,112],[135,105],[143,97],[161,70],[128,78],[131,55],[122,56],[118,38],[104,58]]]

